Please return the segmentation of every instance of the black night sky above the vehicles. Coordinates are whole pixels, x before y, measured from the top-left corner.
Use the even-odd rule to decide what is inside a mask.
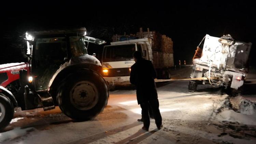
[[[113,34],[136,33],[140,27],[144,31],[146,28],[159,31],[173,40],[175,63],[179,59],[191,63],[196,47],[205,34],[214,37],[231,34],[239,41],[253,43],[250,64],[256,61],[253,56],[256,52],[256,8],[246,1],[72,2],[6,4],[1,9],[3,45],[0,64],[22,60],[18,55],[18,46],[11,44],[7,38],[15,39],[26,30],[73,27],[86,27],[88,36],[106,40],[108,44]],[[95,47],[98,51],[101,48],[103,46]]]

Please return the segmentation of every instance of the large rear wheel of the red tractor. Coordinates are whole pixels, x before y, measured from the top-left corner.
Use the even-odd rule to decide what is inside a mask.
[[[68,75],[57,90],[61,111],[75,120],[89,120],[103,111],[109,91],[104,79],[94,71],[79,70]]]

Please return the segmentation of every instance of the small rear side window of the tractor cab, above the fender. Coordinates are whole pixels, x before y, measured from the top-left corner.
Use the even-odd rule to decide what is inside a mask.
[[[85,41],[83,37],[69,37],[70,49],[73,57],[87,54]]]

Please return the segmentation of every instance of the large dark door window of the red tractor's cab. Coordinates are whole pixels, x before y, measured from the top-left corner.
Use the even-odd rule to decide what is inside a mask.
[[[32,72],[35,78],[35,90],[45,90],[54,73],[65,63],[67,44],[65,38],[36,39],[33,50]]]

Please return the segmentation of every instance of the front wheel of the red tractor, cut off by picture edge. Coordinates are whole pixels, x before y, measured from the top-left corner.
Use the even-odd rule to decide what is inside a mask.
[[[13,118],[13,104],[8,97],[0,93],[0,131],[9,125]]]

